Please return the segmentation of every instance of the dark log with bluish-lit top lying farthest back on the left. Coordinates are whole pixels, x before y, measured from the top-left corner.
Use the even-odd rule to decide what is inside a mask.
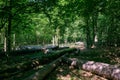
[[[47,46],[45,47],[46,49],[52,49],[52,50],[56,50],[59,47],[58,46]],[[16,56],[16,55],[22,55],[22,54],[30,54],[30,53],[36,53],[36,52],[43,52],[44,47],[42,46],[20,46],[18,47],[17,50],[12,50],[10,52],[10,55]],[[5,52],[4,51],[0,51],[0,57],[4,57],[5,56]]]

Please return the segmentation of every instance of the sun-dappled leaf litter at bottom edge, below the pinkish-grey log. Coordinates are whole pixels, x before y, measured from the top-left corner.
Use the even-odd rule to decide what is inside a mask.
[[[45,80],[107,80],[81,69],[73,69],[63,64],[50,73]]]

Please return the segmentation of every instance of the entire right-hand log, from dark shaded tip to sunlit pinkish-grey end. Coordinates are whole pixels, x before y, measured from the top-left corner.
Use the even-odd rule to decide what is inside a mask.
[[[120,68],[117,65],[107,63],[78,60],[76,58],[62,58],[62,61],[71,66],[82,68],[85,71],[92,72],[107,79],[120,80]]]

